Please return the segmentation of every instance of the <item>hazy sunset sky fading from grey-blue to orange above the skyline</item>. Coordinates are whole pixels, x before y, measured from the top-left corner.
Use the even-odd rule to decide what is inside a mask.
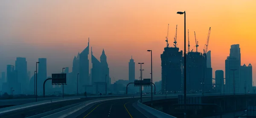
[[[207,41],[215,70],[225,70],[230,45],[240,44],[241,65],[256,65],[255,0],[0,0],[0,71],[26,57],[28,71],[38,58],[47,58],[47,75],[70,67],[78,52],[87,47],[99,59],[104,48],[110,77],[128,79],[128,62],[144,62],[143,78],[150,78],[153,53],[153,81],[161,80],[160,54],[172,45],[177,25],[177,46],[184,49],[184,16],[189,29],[190,49],[203,51]],[[187,39],[187,37],[186,37]],[[136,79],[140,65],[136,64]],[[253,80],[256,80],[253,69]]]

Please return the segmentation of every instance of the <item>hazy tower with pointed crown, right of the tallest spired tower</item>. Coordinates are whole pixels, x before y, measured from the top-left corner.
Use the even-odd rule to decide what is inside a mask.
[[[109,89],[109,85],[111,84],[109,81],[109,68],[108,68],[108,62],[107,62],[107,56],[105,54],[105,51],[103,49],[102,55],[100,56],[100,63],[102,65],[102,79],[107,81],[107,90]],[[107,79],[107,80],[106,80]]]

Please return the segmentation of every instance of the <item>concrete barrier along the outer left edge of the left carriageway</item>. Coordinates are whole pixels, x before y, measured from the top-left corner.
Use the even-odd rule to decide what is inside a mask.
[[[59,102],[59,101],[76,100],[76,99],[80,99],[80,98],[64,98],[64,99],[61,98],[61,99],[55,99],[53,101],[45,100],[45,101],[32,102],[32,103],[28,103],[28,104],[20,104],[20,105],[16,105],[16,106],[12,106],[12,107],[1,108],[0,114],[6,113],[6,112],[12,112],[15,110],[20,110],[20,109],[25,109],[25,108],[29,108],[29,107],[34,107],[34,106],[38,106],[38,105],[42,105],[42,104],[54,103],[54,102]]]

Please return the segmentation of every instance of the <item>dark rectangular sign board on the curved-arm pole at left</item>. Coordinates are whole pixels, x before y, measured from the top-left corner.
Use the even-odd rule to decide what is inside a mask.
[[[66,84],[66,73],[52,74],[52,84]]]

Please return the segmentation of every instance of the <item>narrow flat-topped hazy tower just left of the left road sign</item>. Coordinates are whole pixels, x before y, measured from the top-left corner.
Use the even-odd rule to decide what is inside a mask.
[[[38,62],[37,90],[38,94],[43,94],[44,80],[47,79],[47,59],[39,58]]]

